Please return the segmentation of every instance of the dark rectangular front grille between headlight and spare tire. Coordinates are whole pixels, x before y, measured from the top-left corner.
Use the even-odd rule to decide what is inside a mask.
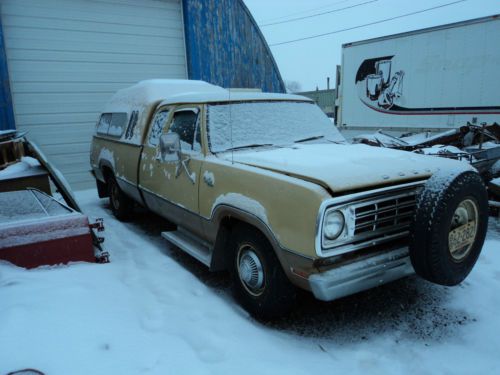
[[[354,207],[354,235],[408,228],[416,209],[416,190],[361,202]]]

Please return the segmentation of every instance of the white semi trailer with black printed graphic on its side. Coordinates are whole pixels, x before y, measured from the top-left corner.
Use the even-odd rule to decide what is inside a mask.
[[[336,124],[349,137],[500,124],[500,15],[342,46]]]

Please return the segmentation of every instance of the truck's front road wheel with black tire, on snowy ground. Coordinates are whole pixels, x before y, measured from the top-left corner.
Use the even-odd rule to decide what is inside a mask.
[[[269,320],[289,313],[295,306],[296,289],[288,280],[268,240],[251,227],[240,227],[231,241],[231,276],[236,300],[251,315]],[[245,280],[245,266],[260,263],[262,272],[252,270],[251,280]],[[262,275],[261,282],[257,274]],[[249,275],[248,273],[246,275]]]

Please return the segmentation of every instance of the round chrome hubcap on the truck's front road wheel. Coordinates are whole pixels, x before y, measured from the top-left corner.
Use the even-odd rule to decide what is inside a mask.
[[[253,248],[243,245],[238,249],[238,275],[245,289],[259,296],[264,287],[264,269]]]

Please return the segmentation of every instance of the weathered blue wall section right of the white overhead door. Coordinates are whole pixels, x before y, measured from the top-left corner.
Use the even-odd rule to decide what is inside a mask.
[[[183,0],[190,79],[222,87],[285,92],[285,85],[242,0]]]

